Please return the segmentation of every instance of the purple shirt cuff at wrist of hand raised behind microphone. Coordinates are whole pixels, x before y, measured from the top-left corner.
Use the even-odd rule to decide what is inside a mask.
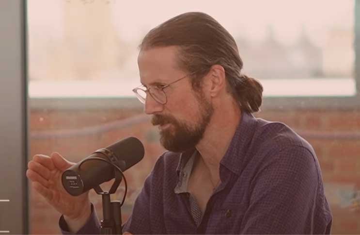
[[[69,232],[69,227],[67,226],[67,223],[63,217],[63,215],[60,217],[59,220],[59,227],[64,235],[73,234]],[[94,205],[91,204],[91,214],[84,226],[82,226],[77,233],[75,234],[100,234],[100,223],[96,215],[96,210],[94,208]]]

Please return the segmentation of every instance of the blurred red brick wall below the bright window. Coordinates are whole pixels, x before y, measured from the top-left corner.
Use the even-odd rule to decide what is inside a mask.
[[[334,217],[332,234],[360,234],[360,110],[265,110],[255,116],[284,122],[313,145]],[[127,136],[141,140],[145,157],[125,172],[129,185],[122,208],[125,221],[145,177],[164,151],[157,129],[141,109],[32,109],[29,159],[36,153],[58,151],[76,162]],[[110,183],[102,185],[103,189]],[[123,189],[117,191],[117,199]],[[31,188],[29,193],[31,234],[59,234],[60,214]],[[101,197],[92,190],[91,198],[102,217]]]

